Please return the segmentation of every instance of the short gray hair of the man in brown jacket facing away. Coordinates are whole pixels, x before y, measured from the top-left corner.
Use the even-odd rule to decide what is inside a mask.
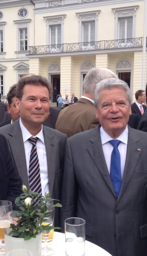
[[[93,67],[83,81],[83,94],[93,94],[96,84],[106,78],[118,78],[114,72],[102,67]]]

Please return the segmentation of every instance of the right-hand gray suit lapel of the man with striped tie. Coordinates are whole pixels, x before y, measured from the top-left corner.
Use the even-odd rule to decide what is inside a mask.
[[[54,139],[52,131],[49,132],[48,127],[43,126],[44,143],[47,153],[47,170],[50,195],[52,195],[54,176],[56,169],[57,143]]]

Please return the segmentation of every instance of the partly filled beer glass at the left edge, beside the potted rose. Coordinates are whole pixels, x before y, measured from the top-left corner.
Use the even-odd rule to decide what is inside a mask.
[[[5,237],[4,231],[13,223],[10,214],[12,212],[12,203],[10,201],[0,201],[0,255],[5,255]]]

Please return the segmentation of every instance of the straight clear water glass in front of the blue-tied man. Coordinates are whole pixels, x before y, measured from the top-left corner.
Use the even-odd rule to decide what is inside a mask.
[[[85,220],[68,218],[65,220],[66,256],[85,255]]]

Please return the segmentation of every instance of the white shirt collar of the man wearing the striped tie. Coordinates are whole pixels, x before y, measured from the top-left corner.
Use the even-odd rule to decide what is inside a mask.
[[[30,137],[34,138],[34,137],[38,137],[38,139],[40,139],[42,141],[42,143],[44,144],[44,136],[43,136],[43,127],[41,127],[40,132],[36,135],[33,136],[22,124],[21,122],[21,118],[19,119],[19,123],[20,123],[20,128],[21,128],[21,132],[22,132],[22,137],[23,137],[23,142],[27,141]]]

